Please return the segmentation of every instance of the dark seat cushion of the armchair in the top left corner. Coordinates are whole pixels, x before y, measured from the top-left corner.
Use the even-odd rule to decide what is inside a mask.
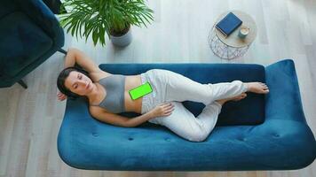
[[[0,19],[0,71],[13,77],[50,50],[52,41],[22,12]]]

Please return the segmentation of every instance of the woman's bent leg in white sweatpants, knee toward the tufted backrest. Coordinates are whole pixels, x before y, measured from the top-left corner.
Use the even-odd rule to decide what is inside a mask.
[[[172,132],[192,142],[204,141],[217,123],[221,104],[214,102],[206,105],[201,114],[195,118],[186,107],[179,102],[171,102],[175,110],[170,116],[156,118],[158,124],[168,127]]]

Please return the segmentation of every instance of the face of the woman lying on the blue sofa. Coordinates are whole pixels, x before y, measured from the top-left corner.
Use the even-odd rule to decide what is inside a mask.
[[[94,85],[83,73],[72,71],[65,80],[65,86],[79,96],[86,96],[92,91]]]

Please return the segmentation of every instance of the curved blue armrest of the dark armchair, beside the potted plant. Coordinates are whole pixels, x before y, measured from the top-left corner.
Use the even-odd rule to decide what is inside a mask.
[[[38,27],[41,27],[47,35],[51,36],[54,43],[62,42],[61,46],[63,45],[64,31],[60,27],[58,19],[42,0],[15,0],[15,3]],[[57,45],[60,46],[60,44]]]

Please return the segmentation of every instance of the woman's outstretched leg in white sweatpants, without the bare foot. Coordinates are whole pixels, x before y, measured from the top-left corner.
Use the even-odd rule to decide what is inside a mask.
[[[247,91],[242,81],[201,84],[168,70],[159,70],[157,74],[166,81],[166,102],[194,101],[208,105],[215,100],[238,96]]]

